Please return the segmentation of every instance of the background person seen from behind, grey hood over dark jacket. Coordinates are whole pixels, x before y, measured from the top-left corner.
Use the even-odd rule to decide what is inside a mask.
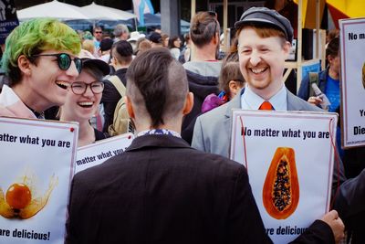
[[[222,62],[217,60],[220,25],[216,13],[199,12],[190,23],[191,60],[183,64],[193,92],[193,110],[183,120],[182,137],[192,143],[196,117],[202,112],[203,101],[211,93],[218,94],[218,77]]]

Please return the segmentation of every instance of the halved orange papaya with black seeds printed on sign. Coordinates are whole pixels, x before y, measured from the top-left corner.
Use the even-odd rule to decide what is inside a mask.
[[[278,147],[267,171],[263,202],[266,212],[276,219],[286,219],[299,203],[299,183],[294,149]]]

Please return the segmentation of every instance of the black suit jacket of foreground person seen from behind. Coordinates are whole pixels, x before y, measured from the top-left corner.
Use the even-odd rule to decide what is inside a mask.
[[[245,167],[171,135],[75,175],[67,243],[270,243]]]

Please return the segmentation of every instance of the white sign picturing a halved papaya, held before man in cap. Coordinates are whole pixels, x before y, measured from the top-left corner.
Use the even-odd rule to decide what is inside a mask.
[[[287,243],[329,206],[337,113],[233,111],[231,159],[245,164],[266,233]]]

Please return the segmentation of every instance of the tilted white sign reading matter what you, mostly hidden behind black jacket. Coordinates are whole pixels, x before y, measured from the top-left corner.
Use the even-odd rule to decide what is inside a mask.
[[[132,133],[120,134],[78,148],[75,174],[91,166],[98,165],[110,157],[122,154],[133,141]]]

